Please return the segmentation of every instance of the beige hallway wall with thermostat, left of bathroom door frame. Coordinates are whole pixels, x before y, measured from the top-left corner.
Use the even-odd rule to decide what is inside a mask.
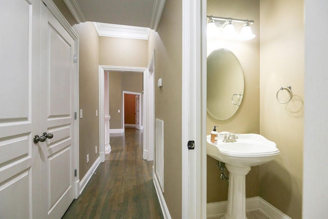
[[[164,193],[172,218],[182,215],[181,77],[182,2],[167,0],[157,33],[150,36],[150,60],[155,47],[155,117],[164,121]]]

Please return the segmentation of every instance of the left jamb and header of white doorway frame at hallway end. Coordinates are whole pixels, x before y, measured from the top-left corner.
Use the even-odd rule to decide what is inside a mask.
[[[100,162],[105,162],[105,112],[104,112],[104,74],[105,71],[131,71],[131,72],[144,72],[147,68],[140,67],[125,67],[125,66],[99,66],[99,157]],[[145,79],[144,79],[145,80]],[[144,93],[145,94],[145,93]],[[145,98],[145,96],[144,96]],[[144,101],[145,103],[145,101]],[[144,105],[145,107],[145,105]]]

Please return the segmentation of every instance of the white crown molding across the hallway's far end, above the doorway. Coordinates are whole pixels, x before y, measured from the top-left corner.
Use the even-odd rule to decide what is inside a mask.
[[[117,24],[93,23],[99,36],[148,40],[150,29]]]

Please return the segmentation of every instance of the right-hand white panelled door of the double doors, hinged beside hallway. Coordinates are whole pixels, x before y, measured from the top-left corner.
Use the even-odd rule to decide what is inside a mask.
[[[40,130],[48,137],[40,144],[41,200],[43,218],[60,218],[74,199],[75,42],[45,5],[41,14]]]

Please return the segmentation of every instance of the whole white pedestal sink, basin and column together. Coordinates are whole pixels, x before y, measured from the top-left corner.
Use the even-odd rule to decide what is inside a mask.
[[[245,177],[252,166],[267,163],[280,154],[274,142],[259,134],[236,134],[236,142],[222,142],[224,134],[218,136],[217,144],[207,136],[207,154],[226,163],[229,170],[227,213],[221,219],[247,219],[245,208]]]

